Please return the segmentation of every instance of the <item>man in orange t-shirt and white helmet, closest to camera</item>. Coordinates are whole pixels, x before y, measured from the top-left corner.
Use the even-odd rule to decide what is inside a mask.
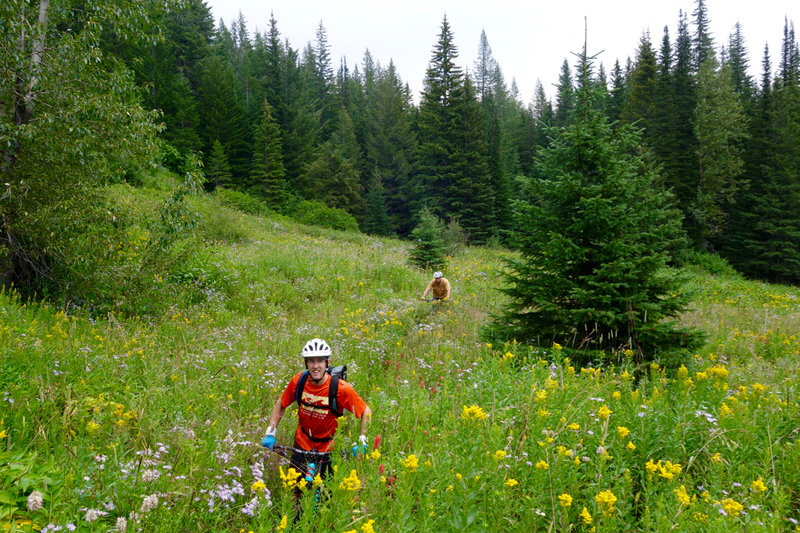
[[[309,462],[316,463],[317,472],[327,477],[331,468],[330,450],[339,422],[336,415],[331,412],[329,403],[329,386],[331,376],[327,373],[330,364],[331,348],[322,339],[311,339],[303,347],[303,361],[308,372],[308,378],[303,386],[302,396],[299,398],[297,418],[299,424],[294,435],[294,448],[290,462],[299,472],[305,472]],[[283,394],[275,402],[272,415],[269,418],[269,427],[261,444],[269,449],[275,446],[275,431],[283,418],[286,408],[298,400],[297,388],[303,372],[296,374],[284,389]],[[344,380],[339,381],[336,401],[339,409],[347,409],[356,418],[361,420],[360,436],[358,438],[362,449],[367,446],[367,422],[372,418],[372,410],[356,393],[353,386]],[[324,453],[310,456],[299,450]],[[298,489],[299,490],[299,489]]]

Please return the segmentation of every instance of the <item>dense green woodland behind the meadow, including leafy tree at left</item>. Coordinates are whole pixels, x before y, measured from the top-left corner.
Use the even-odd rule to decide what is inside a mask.
[[[568,61],[552,100],[539,85],[526,103],[506,84],[485,33],[465,71],[446,18],[424,89],[412,95],[391,60],[381,64],[368,50],[358,66],[337,69],[322,24],[294,49],[274,18],[263,33],[241,16],[215,28],[200,0],[51,3],[46,24],[35,5],[2,8],[8,185],[0,214],[4,279],[39,291],[84,283],[75,282],[82,275],[70,265],[79,258],[66,244],[78,237],[66,228],[106,224],[113,210],[81,198],[120,177],[138,183],[148,159],[191,171],[186,161],[198,151],[207,190],[247,192],[284,214],[315,200],[347,211],[363,231],[409,236],[427,206],[457,220],[470,242],[504,241],[517,178],[541,177],[535,153],[576,106],[578,73]],[[601,65],[592,80],[598,105],[613,127],[642,129],[691,246],[748,275],[798,282],[793,26],[786,21],[776,69],[764,51],[757,86],[746,28],[737,24],[717,49],[710,17],[698,0],[681,12],[674,39],[665,26],[655,47],[645,33],[608,78]],[[98,209],[79,213],[71,202]]]

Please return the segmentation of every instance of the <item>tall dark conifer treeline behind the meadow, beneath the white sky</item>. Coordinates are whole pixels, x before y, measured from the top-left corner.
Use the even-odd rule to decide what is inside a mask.
[[[19,17],[34,26],[33,7],[41,3],[7,4],[6,10],[18,9],[9,11],[9,21]],[[91,9],[75,11],[77,20],[62,9],[64,18],[47,33],[64,48],[70,35],[93,32],[104,64],[115,62],[98,87],[116,88],[115,98],[129,107],[143,98],[142,114],[157,112],[163,123],[153,146],[131,146],[119,156],[129,180],[135,173],[124,160],[137,150],[157,152],[181,174],[193,171],[199,154],[207,190],[245,192],[279,213],[292,214],[300,202],[308,209],[311,201],[312,208],[324,204],[349,213],[367,233],[408,236],[428,208],[457,221],[470,242],[502,243],[513,229],[519,178],[546,178],[536,175],[537,153],[574,120],[577,55],[572,65],[564,61],[552,99],[539,83],[525,102],[507,83],[485,33],[472,68],[460,66],[467,61],[458,55],[446,17],[439,35],[431,36],[423,90],[415,99],[391,61],[371,56],[369,43],[358,65],[333,58],[322,22],[307,45],[294,48],[274,17],[265,32],[251,33],[242,15],[229,26],[215,24],[202,0],[120,2],[113,13],[100,3],[86,5]],[[104,16],[117,17],[113,25],[87,23],[92,10],[104,9]],[[136,20],[152,31],[131,38]],[[13,50],[15,33],[7,33],[7,50]],[[35,51],[35,32],[23,34],[32,43],[27,53]],[[632,57],[600,65],[594,75],[601,94],[596,105],[615,128],[641,128],[649,157],[661,169],[659,186],[672,190],[690,241],[749,276],[800,282],[800,52],[792,22],[784,22],[780,50],[765,46],[760,78],[749,74],[744,29],[737,24],[726,42],[716,42],[703,0],[691,13],[678,14],[676,31],[665,25],[660,38],[645,32],[631,44]],[[94,52],[88,50],[79,54],[85,67],[65,60],[51,61],[50,68],[90,69]],[[31,102],[43,98],[24,86],[43,76],[35,57],[16,58],[17,71],[27,72],[16,81],[14,70],[6,69],[17,91],[4,117],[13,115],[16,126],[31,120]],[[110,72],[117,81],[109,81]],[[129,72],[140,95],[125,79]],[[81,75],[72,76],[76,87]],[[81,83],[81,91],[91,91],[91,78]],[[37,112],[41,117],[44,110]],[[136,117],[136,124],[147,120]],[[73,127],[71,135],[88,126]],[[8,183],[21,179],[14,176],[24,146],[20,131],[4,149]],[[104,133],[109,145],[133,140],[112,138],[113,132]],[[144,133],[141,139],[153,140]],[[4,217],[11,216],[8,209]],[[15,245],[12,238],[4,243]]]

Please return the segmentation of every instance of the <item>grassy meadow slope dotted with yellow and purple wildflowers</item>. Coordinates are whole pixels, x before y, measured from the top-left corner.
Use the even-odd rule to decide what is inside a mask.
[[[635,381],[559,346],[482,343],[503,303],[499,251],[453,257],[452,302],[433,312],[407,243],[194,202],[203,238],[153,281],[163,314],[65,314],[0,294],[3,529],[786,531],[800,519],[796,288],[692,271],[684,320],[709,343]],[[257,443],[312,337],[348,365],[380,438],[336,454],[330,498],[293,524],[293,480]],[[344,417],[337,449],[356,436]]]

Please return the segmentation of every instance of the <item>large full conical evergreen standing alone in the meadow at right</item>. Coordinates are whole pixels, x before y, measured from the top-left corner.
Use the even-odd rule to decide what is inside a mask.
[[[497,336],[539,345],[633,349],[652,358],[697,337],[671,318],[688,304],[665,269],[680,217],[629,126],[612,130],[582,58],[572,124],[540,153],[542,179],[518,205]]]

